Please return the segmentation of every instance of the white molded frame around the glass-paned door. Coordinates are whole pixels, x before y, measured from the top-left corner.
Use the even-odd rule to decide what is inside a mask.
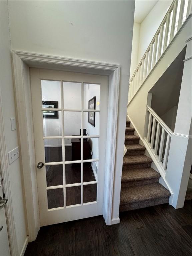
[[[109,76],[103,216],[111,225],[120,66],[15,50],[12,56],[29,241],[36,239],[40,228],[29,67]]]

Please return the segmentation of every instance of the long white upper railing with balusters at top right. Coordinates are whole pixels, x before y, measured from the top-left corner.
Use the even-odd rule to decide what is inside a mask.
[[[191,0],[175,0],[169,7],[155,36],[129,82],[128,103],[132,100],[163,52],[171,43],[183,22],[191,13]]]

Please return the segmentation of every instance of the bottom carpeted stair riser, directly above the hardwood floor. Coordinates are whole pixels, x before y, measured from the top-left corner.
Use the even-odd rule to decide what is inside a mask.
[[[169,197],[162,197],[162,198],[157,198],[157,199],[153,199],[153,200],[147,200],[147,201],[141,201],[141,202],[136,202],[136,203],[131,203],[131,204],[120,205],[119,211],[125,212],[125,211],[155,206],[155,205],[159,205],[159,204],[167,204],[167,203],[169,203]]]

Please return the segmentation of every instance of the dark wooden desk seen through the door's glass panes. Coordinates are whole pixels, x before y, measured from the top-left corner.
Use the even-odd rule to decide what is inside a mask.
[[[81,139],[71,139],[72,161],[81,159]],[[91,159],[91,147],[88,139],[83,139],[83,160]]]

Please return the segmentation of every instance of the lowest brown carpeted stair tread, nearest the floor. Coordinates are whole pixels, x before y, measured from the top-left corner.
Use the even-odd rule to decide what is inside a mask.
[[[169,197],[170,195],[170,192],[160,183],[124,187],[121,189],[120,205],[160,199]]]

